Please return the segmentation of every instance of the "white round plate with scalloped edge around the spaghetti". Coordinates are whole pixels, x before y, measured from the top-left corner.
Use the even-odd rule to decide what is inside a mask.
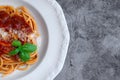
[[[0,80],[53,80],[63,67],[70,39],[61,7],[55,0],[0,0],[0,5],[27,7],[41,34],[39,61],[27,71],[15,71]]]

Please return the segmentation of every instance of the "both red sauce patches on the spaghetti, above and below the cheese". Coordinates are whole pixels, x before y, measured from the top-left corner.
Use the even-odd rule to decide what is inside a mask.
[[[9,32],[12,30],[23,31],[26,34],[32,33],[31,26],[24,20],[22,16],[13,15],[10,16],[5,11],[0,11],[0,28]],[[0,56],[9,53],[14,47],[11,46],[11,42],[4,42],[0,40]]]

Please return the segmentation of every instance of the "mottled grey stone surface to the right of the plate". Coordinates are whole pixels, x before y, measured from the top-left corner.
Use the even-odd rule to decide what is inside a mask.
[[[120,0],[57,0],[71,35],[55,80],[120,80]]]

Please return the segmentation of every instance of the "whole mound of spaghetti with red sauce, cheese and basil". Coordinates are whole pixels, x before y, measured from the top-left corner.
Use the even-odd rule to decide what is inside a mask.
[[[37,25],[28,10],[21,6],[0,6],[0,73],[26,70],[38,60]]]

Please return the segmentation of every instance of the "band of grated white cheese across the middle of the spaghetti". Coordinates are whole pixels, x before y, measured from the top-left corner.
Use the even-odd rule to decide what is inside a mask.
[[[11,34],[12,33],[12,34]],[[13,35],[16,35],[13,36]],[[20,39],[22,41],[27,41],[27,42],[30,42],[31,39],[35,39],[36,38],[36,35],[33,33],[33,34],[30,34],[30,35],[27,35],[25,32],[23,31],[17,31],[17,30],[13,30],[13,29],[9,29],[9,32],[6,32],[3,28],[0,28],[0,40],[3,39],[3,40],[10,40],[10,39]]]

